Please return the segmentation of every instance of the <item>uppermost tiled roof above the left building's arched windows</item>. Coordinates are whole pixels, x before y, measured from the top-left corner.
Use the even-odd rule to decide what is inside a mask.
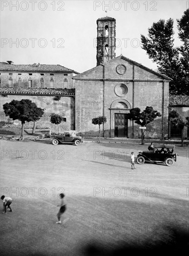
[[[32,65],[14,65],[6,62],[0,62],[1,71],[36,71],[36,72],[73,72],[79,74],[73,69],[61,65],[32,64]]]

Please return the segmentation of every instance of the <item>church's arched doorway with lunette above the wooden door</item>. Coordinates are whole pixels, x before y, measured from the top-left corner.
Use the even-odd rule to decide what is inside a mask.
[[[131,121],[128,120],[130,108],[129,102],[123,99],[111,104],[111,137],[131,137]]]

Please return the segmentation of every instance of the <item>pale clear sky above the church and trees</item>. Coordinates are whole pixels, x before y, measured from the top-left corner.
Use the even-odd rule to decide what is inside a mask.
[[[160,19],[174,20],[189,0],[1,0],[0,61],[14,64],[60,64],[82,73],[96,66],[96,20],[116,19],[116,57],[156,69],[140,46],[140,34]],[[107,13],[105,12],[107,10]]]

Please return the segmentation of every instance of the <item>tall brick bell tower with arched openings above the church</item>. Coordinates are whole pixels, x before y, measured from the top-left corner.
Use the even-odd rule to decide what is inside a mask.
[[[97,21],[96,66],[115,58],[115,19],[99,18]]]

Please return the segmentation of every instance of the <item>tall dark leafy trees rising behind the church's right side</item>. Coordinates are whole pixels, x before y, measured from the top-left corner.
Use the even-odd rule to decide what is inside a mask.
[[[141,34],[142,48],[157,63],[158,72],[170,77],[170,93],[189,95],[189,9],[177,20],[178,37],[183,45],[174,47],[173,19],[159,20]]]

